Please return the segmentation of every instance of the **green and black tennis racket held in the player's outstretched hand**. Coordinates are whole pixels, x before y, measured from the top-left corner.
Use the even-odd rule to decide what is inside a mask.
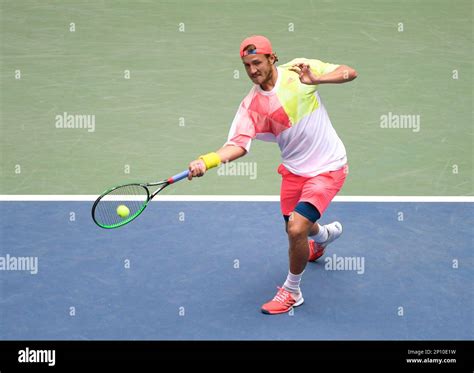
[[[167,180],[148,184],[125,184],[102,193],[92,206],[92,219],[101,228],[122,227],[135,220],[148,203],[168,185],[188,177],[189,171],[183,171]],[[150,187],[158,187],[153,193]]]

